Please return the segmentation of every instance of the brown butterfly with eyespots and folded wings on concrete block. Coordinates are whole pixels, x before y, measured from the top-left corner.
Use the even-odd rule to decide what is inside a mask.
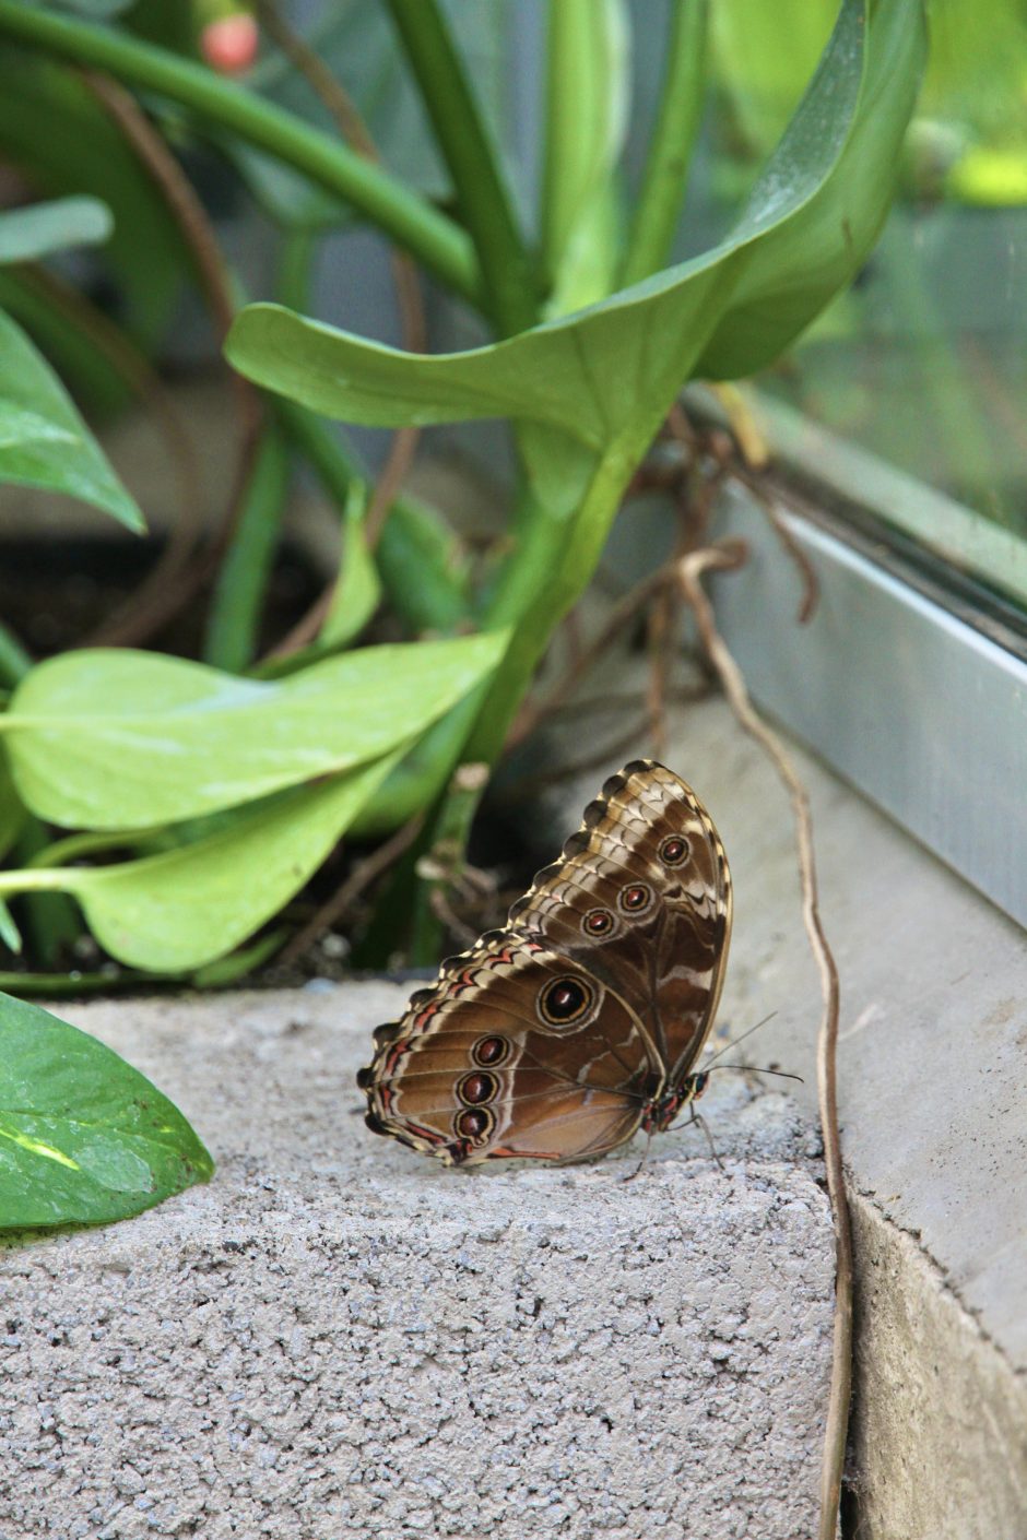
[[[447,1166],[577,1161],[699,1096],[731,933],[724,845],[694,792],[634,759],[553,865],[374,1033],[366,1124]]]

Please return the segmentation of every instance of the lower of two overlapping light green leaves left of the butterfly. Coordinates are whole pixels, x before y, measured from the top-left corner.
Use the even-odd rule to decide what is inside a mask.
[[[303,887],[399,758],[245,808],[159,856],[63,869],[62,887],[120,962],[159,973],[203,967]]]

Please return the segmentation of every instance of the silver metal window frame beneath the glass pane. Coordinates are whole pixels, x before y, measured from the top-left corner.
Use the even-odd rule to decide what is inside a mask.
[[[718,531],[745,539],[750,561],[714,584],[724,636],[767,711],[1027,926],[1027,618],[902,539],[895,508],[867,497],[888,467],[850,487],[851,447],[835,454],[819,430],[807,442],[805,457],[788,445],[781,517],[816,573],[816,613],[798,622],[796,564],[733,484]]]

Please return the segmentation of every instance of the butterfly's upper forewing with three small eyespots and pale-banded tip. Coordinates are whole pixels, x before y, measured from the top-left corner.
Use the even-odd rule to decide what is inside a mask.
[[[731,935],[724,845],[681,776],[651,759],[611,776],[510,921],[616,989],[665,1084],[681,1083],[713,1026]]]

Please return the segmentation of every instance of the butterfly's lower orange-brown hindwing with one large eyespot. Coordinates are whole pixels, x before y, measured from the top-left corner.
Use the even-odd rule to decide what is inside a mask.
[[[634,1133],[654,1073],[617,993],[510,927],[443,962],[374,1043],[368,1126],[445,1164],[600,1155]]]

